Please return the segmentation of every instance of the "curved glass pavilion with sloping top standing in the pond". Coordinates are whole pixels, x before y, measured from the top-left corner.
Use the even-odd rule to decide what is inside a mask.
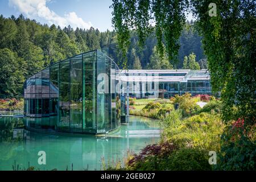
[[[98,50],[52,64],[24,83],[30,129],[107,133],[120,126],[119,68]]]

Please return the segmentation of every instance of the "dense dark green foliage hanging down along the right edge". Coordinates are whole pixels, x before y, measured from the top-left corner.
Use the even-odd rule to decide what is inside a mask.
[[[217,16],[208,15],[211,1],[191,1],[197,15],[197,30],[203,48],[213,92],[221,92],[222,118],[232,119],[233,107],[245,126],[254,125],[256,115],[255,49],[256,2],[217,1]]]

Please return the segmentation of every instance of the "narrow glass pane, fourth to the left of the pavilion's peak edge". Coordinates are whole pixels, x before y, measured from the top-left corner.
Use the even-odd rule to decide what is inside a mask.
[[[50,68],[50,127],[57,129],[58,126],[58,111],[59,111],[59,64],[52,65]]]

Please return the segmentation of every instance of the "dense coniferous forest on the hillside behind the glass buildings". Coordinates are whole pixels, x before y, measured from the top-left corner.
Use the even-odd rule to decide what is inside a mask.
[[[190,53],[195,53],[196,61],[206,63],[201,38],[187,22],[180,37],[180,49],[175,66],[166,58],[161,60],[155,50],[154,33],[146,39],[143,48],[138,45],[138,35],[131,32],[131,44],[127,51],[127,69],[172,69],[183,68],[183,60]],[[36,20],[11,16],[0,16],[0,97],[22,96],[24,80],[44,67],[93,49],[101,49],[114,59],[119,68],[125,62],[118,50],[117,35],[114,31],[100,32],[97,28],[89,30],[71,27],[60,28],[55,24],[41,24]],[[167,57],[167,56],[166,56]],[[159,61],[159,65],[154,62]],[[206,68],[207,64],[200,64]]]

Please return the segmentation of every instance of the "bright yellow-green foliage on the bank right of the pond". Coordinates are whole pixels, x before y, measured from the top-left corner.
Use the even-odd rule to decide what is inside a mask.
[[[208,151],[220,150],[220,136],[224,125],[217,114],[201,113],[183,121],[180,113],[170,114],[164,119],[162,139],[179,147],[199,147]]]

